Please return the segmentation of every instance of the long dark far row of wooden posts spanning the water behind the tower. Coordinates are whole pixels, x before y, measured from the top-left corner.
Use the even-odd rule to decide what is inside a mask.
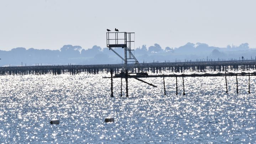
[[[4,66],[0,67],[0,75],[42,75],[42,74],[99,74],[110,73],[119,74],[123,64],[101,64],[101,65],[46,65],[46,66]],[[151,72],[153,74],[166,72],[184,73],[210,71],[249,71],[256,70],[255,60],[239,61],[218,61],[218,62],[177,62],[177,63],[141,63],[140,68],[134,67],[134,64],[127,64],[131,73]],[[125,72],[125,71],[124,71]]]

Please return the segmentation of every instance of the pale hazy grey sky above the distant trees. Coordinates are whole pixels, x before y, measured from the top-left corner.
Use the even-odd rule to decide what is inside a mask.
[[[0,0],[0,49],[106,47],[106,28],[135,47],[187,42],[256,48],[255,0]]]

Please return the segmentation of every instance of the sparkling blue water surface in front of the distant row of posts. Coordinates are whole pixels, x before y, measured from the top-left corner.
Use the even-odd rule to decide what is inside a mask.
[[[1,143],[256,143],[256,78],[129,79],[109,74],[0,76]],[[104,123],[114,117],[114,123]],[[60,119],[51,125],[50,119]]]

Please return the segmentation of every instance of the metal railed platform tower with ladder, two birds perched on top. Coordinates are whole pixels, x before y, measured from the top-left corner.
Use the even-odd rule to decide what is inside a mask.
[[[123,61],[124,65],[122,67],[121,73],[124,73],[126,70],[131,74],[134,68],[138,68],[138,71],[143,73],[140,63],[134,56],[134,42],[135,42],[135,33],[134,32],[107,32],[107,47],[109,50],[112,50],[117,56],[119,56]],[[124,57],[122,54],[119,54],[113,48],[123,48]]]

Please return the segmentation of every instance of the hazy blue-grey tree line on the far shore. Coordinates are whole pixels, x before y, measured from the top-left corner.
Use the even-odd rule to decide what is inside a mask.
[[[120,55],[124,55],[123,48],[115,48]],[[136,48],[135,57],[140,63],[152,62],[184,62],[209,60],[239,60],[255,59],[256,49],[249,48],[248,43],[226,48],[212,47],[205,43],[187,43],[178,48],[162,48],[154,46]],[[87,65],[87,64],[118,64],[122,60],[109,48],[93,46],[83,49],[80,46],[64,45],[60,50],[13,48],[9,51],[0,50],[0,66],[23,65]]]

